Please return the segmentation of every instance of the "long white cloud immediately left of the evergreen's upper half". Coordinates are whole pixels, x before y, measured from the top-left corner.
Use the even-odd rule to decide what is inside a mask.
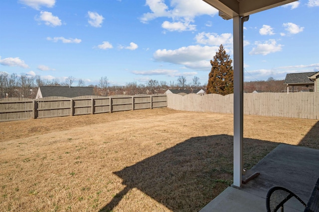
[[[218,51],[217,46],[188,46],[175,50],[159,49],[153,57],[156,61],[184,65],[190,69],[206,69],[210,66],[209,60]]]

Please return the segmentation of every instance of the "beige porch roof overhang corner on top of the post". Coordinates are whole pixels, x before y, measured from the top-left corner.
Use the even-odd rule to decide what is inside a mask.
[[[219,10],[219,16],[228,20],[236,16],[245,17],[250,14],[271,9],[297,0],[203,0]]]

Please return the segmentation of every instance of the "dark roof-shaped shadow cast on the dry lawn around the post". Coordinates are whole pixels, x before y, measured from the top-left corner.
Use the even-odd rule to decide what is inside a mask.
[[[244,139],[244,167],[257,164],[278,144]],[[132,188],[171,211],[199,211],[232,184],[233,137],[190,138],[114,174],[126,187],[100,212],[112,211]]]

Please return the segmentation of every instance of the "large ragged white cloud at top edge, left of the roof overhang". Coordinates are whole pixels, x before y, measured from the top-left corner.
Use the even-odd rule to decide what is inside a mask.
[[[144,13],[141,22],[148,23],[158,17],[167,17],[172,21],[164,21],[161,26],[169,31],[195,30],[196,25],[190,24],[194,22],[195,16],[218,13],[217,9],[201,0],[171,0],[170,8],[164,0],[146,0],[146,5],[152,12]]]

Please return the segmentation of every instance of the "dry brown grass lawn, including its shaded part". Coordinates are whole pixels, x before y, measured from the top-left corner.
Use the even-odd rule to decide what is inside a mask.
[[[244,117],[250,168],[319,122]],[[231,114],[167,108],[0,123],[0,211],[198,211],[232,183]]]

